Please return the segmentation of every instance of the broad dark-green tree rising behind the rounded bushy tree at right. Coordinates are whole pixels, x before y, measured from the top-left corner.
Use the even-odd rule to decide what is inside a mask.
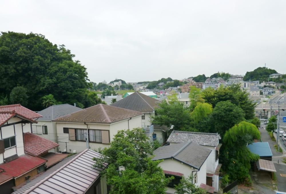
[[[203,90],[205,102],[212,104],[215,107],[218,102],[230,101],[232,104],[239,106],[245,113],[245,119],[250,120],[254,118],[256,103],[249,99],[249,94],[242,91],[238,84],[232,84],[228,87],[219,87],[217,90],[206,88]]]

